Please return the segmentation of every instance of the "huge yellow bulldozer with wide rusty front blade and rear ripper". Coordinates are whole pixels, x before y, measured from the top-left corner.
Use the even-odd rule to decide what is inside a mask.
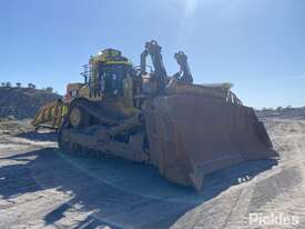
[[[170,77],[156,41],[145,43],[139,67],[114,49],[91,56],[84,81],[68,84],[64,100],[42,108],[33,125],[58,128],[63,152],[150,163],[195,190],[206,173],[277,156],[264,125],[231,83],[194,84],[186,54],[174,58],[180,71]]]

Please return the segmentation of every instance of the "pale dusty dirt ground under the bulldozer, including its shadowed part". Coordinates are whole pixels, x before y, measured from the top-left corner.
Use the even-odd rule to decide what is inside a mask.
[[[267,119],[277,160],[207,176],[202,193],[151,167],[65,156],[52,133],[0,135],[0,228],[260,228],[248,213],[284,212],[305,227],[305,121]]]

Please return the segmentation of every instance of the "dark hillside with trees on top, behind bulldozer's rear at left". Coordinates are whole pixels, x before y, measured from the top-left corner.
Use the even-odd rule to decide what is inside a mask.
[[[45,90],[29,88],[0,88],[0,118],[33,118],[38,109],[60,99],[61,96]]]

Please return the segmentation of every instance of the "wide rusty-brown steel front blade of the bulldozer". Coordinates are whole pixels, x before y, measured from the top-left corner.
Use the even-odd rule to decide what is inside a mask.
[[[151,107],[144,111],[151,162],[173,182],[199,191],[206,173],[277,156],[252,108],[179,94]]]

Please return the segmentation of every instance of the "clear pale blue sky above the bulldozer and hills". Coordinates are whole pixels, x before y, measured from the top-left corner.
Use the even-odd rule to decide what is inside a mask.
[[[246,106],[305,106],[304,0],[0,0],[0,81],[82,81],[90,54],[115,48],[138,66],[144,43],[189,56],[196,83],[232,82]]]

